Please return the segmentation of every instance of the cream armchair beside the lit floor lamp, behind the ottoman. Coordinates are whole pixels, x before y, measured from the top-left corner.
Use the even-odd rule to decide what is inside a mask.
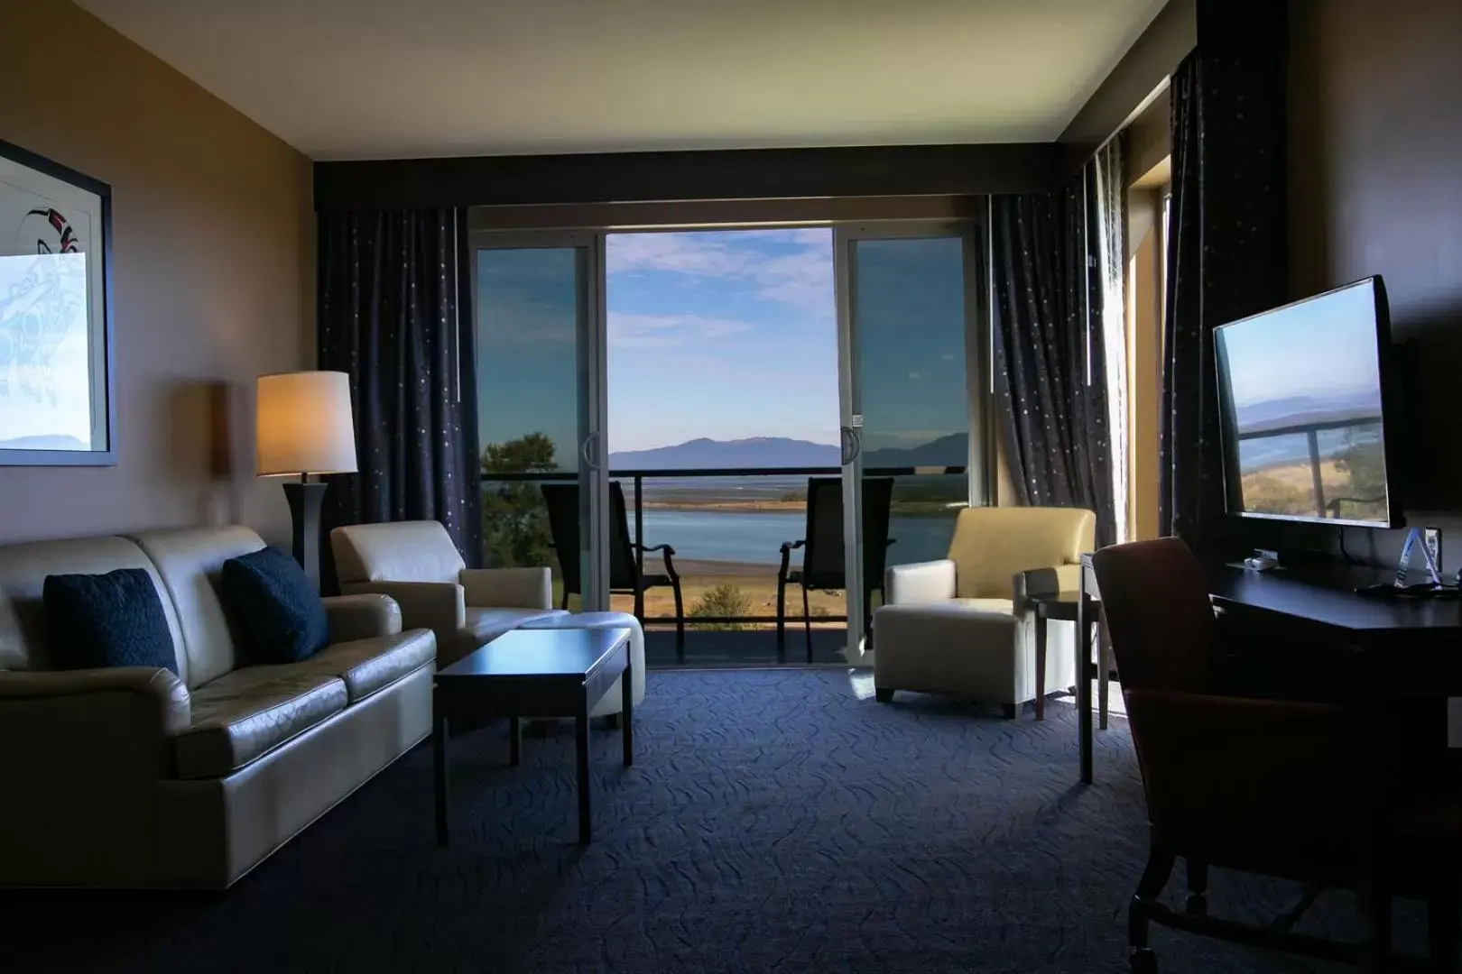
[[[437,521],[351,524],[330,532],[341,594],[379,593],[401,605],[406,628],[437,635],[437,667],[553,607],[547,568],[466,568]]]

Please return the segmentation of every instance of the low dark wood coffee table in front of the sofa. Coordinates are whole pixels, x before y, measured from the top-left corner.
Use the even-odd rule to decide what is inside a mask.
[[[433,692],[437,844],[447,844],[447,723],[509,718],[512,764],[523,717],[573,717],[579,758],[579,841],[591,838],[589,710],[623,678],[624,765],[635,764],[635,680],[629,629],[515,629],[440,670]]]

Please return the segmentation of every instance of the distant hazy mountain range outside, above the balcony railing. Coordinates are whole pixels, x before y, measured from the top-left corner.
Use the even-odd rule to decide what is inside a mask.
[[[863,463],[870,467],[963,466],[969,438],[950,434],[906,448],[870,450]],[[750,437],[708,440],[705,437],[671,447],[621,450],[610,454],[611,470],[744,470],[757,467],[836,467],[842,451],[835,444]]]

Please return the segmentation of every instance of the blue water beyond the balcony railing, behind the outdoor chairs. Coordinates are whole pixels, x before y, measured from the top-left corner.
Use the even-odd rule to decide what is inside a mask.
[[[806,485],[806,478],[803,479]],[[630,532],[635,530],[633,511]],[[645,543],[670,545],[675,558],[776,565],[782,542],[795,542],[807,527],[801,511],[645,511]],[[955,533],[950,517],[899,517],[889,521],[890,565],[943,558]],[[651,555],[649,558],[654,558]],[[797,564],[794,552],[792,564]]]

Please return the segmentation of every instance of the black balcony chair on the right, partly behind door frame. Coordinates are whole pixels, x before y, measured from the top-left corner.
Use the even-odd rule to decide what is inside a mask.
[[[883,567],[887,561],[889,504],[893,478],[863,480],[863,631],[873,629],[873,593],[883,594]],[[803,549],[803,567],[791,568],[792,552]],[[807,662],[813,662],[813,622],[807,593],[836,591],[848,587],[842,548],[842,478],[807,479],[807,530],[801,540],[782,543],[782,565],[776,572],[776,656],[787,644],[787,586],[803,590],[803,626],[807,632]]]

